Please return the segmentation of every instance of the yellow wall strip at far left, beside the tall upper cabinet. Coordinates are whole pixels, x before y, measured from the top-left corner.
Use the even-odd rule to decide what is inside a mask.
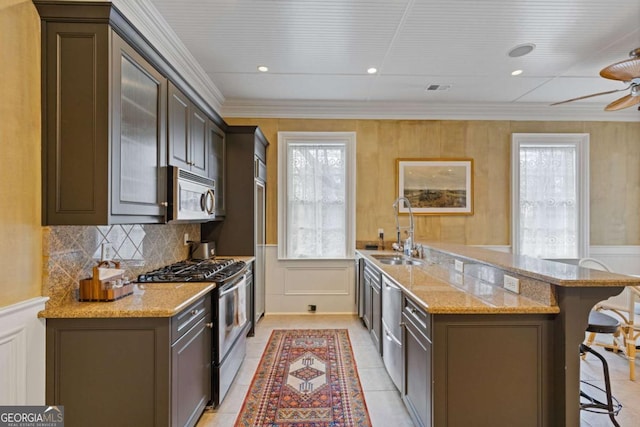
[[[0,3],[0,307],[41,295],[40,19]]]

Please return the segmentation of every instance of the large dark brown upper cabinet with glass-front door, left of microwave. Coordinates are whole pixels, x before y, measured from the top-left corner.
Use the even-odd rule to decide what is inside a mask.
[[[108,23],[64,19],[65,6],[36,6],[43,224],[164,222],[166,77]]]

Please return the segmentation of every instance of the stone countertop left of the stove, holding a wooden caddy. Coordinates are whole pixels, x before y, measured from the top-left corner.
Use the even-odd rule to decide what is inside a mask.
[[[173,317],[215,289],[213,283],[138,283],[134,293],[116,301],[74,301],[47,308],[38,317],[118,318]]]

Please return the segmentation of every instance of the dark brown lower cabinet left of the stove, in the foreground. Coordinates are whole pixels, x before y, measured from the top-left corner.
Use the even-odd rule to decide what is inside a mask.
[[[171,318],[47,319],[46,404],[67,427],[193,426],[211,397],[211,299]]]

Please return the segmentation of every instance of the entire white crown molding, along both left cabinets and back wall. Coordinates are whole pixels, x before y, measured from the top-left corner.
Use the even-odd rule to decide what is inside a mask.
[[[225,99],[150,0],[71,1],[112,3],[193,88],[194,93],[222,117],[640,122],[640,112],[636,108],[606,112],[602,105],[596,103],[550,107],[544,103]]]

